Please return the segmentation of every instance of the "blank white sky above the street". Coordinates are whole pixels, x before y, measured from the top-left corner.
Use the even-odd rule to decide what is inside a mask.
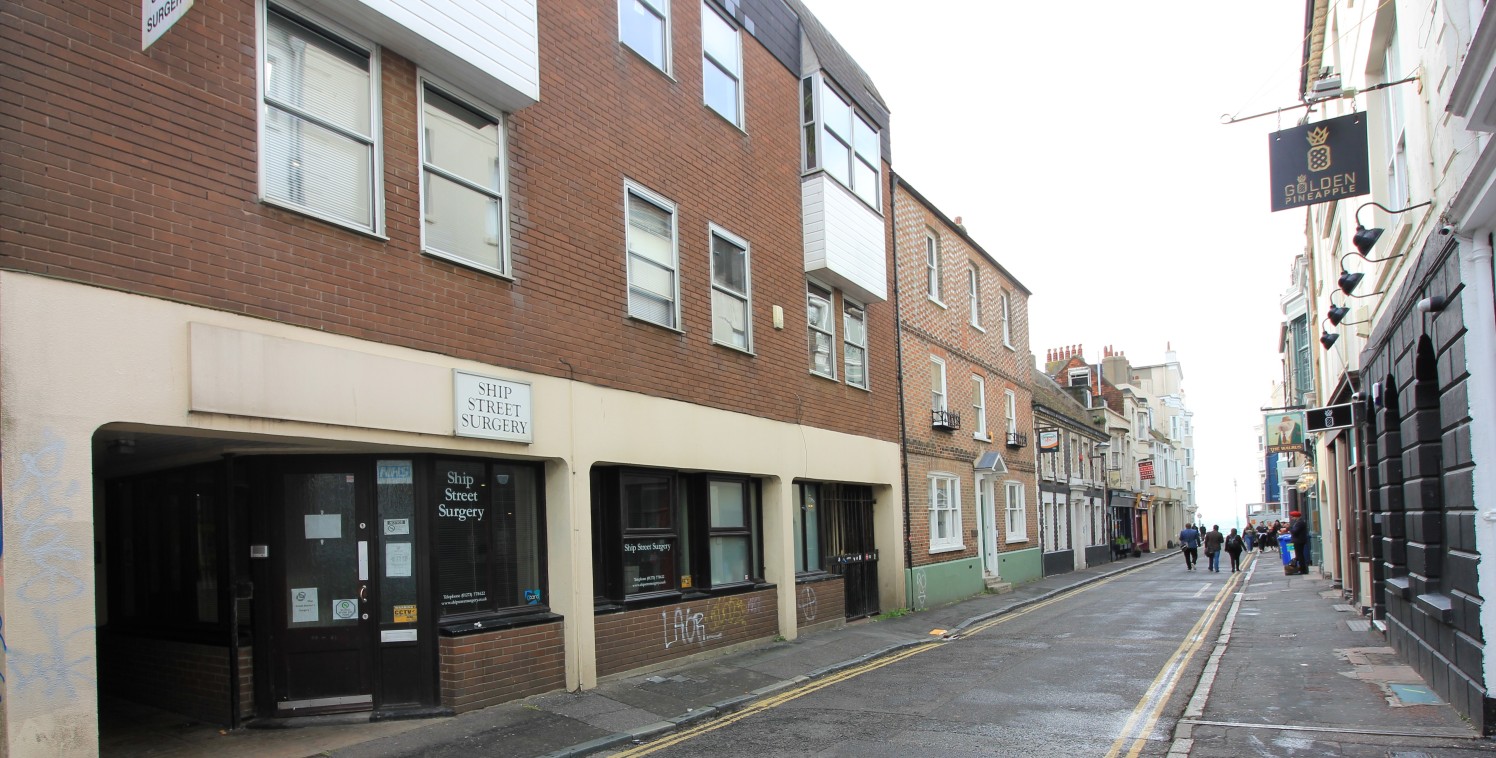
[[[805,0],[872,78],[893,169],[1032,293],[1029,347],[1173,345],[1201,517],[1243,522],[1305,212],[1269,212],[1303,0]]]

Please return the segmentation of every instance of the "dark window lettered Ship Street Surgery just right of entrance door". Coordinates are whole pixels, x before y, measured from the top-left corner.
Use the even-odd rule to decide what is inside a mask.
[[[545,508],[530,463],[437,460],[437,606],[443,619],[546,604]]]

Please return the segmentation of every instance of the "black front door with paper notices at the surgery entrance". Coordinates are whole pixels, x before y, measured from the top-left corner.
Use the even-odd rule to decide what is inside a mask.
[[[271,469],[269,655],[278,716],[373,706],[368,468],[337,459]]]

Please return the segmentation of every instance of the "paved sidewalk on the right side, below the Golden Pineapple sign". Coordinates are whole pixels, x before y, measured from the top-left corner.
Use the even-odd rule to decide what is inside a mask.
[[[1248,567],[1170,757],[1471,757],[1480,739],[1310,568]]]

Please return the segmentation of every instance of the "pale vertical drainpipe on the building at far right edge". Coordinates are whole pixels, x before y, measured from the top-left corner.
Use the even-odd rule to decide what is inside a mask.
[[[1459,241],[1462,320],[1465,321],[1465,360],[1469,380],[1469,405],[1496,408],[1496,295],[1492,283],[1492,230],[1475,230],[1471,239]],[[1490,413],[1471,413],[1471,474],[1475,499],[1475,550],[1483,556],[1496,555],[1496,425]],[[1484,429],[1484,431],[1481,431]],[[1481,597],[1496,592],[1496,574],[1490,570],[1478,576]],[[1483,625],[1496,623],[1496,608],[1481,610]],[[1496,680],[1496,655],[1484,656],[1486,682]]]

